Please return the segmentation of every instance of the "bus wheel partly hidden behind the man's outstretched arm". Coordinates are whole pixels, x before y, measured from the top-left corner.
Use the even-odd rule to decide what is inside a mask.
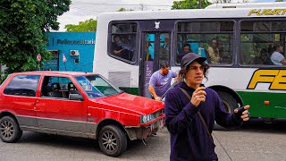
[[[232,97],[230,94],[223,92],[223,91],[216,91],[218,96],[221,98],[223,102],[223,106],[226,112],[233,113],[233,110],[238,107],[238,101]],[[226,128],[223,128],[217,123],[214,123],[214,130],[215,131],[224,131],[227,130]]]

